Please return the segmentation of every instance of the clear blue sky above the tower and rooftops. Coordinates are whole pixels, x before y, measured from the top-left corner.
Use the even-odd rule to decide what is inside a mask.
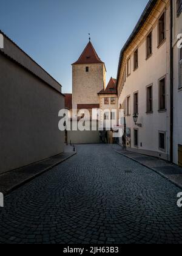
[[[0,0],[0,28],[72,91],[72,68],[88,42],[116,78],[120,50],[148,0]]]

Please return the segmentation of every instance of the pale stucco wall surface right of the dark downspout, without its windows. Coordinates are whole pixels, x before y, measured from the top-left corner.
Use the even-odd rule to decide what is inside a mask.
[[[177,5],[174,1],[174,163],[178,164],[178,144],[182,145],[182,89],[179,90],[180,49],[177,48],[177,35],[182,34],[182,13],[177,17]]]

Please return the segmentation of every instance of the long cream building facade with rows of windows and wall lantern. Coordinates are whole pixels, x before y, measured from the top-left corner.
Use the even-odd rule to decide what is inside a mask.
[[[170,160],[169,0],[147,4],[121,50],[117,89],[127,149]]]

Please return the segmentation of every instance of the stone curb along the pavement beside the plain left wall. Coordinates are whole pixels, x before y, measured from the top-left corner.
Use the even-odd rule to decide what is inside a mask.
[[[69,158],[73,157],[74,155],[76,155],[76,151],[72,154],[69,155],[69,157],[66,157],[64,159],[62,159],[60,162],[55,163],[54,165],[49,166],[48,168],[45,168],[43,171],[33,175],[32,177],[29,177],[28,179],[24,180],[23,182],[18,183],[17,185],[13,186],[12,188],[10,188],[9,190],[3,192],[4,196],[7,196],[8,194],[10,194],[12,191],[22,187],[23,185],[25,185],[26,183],[29,183],[30,181],[32,181],[33,179],[35,179],[36,177],[41,176],[42,174],[44,174],[47,171],[50,171],[50,169],[54,168],[55,166],[58,166],[60,163],[65,162],[66,160],[68,160]]]

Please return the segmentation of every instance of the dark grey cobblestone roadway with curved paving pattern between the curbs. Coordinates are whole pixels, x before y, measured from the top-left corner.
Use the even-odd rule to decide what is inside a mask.
[[[77,152],[5,197],[0,243],[182,243],[179,188],[109,145]]]

